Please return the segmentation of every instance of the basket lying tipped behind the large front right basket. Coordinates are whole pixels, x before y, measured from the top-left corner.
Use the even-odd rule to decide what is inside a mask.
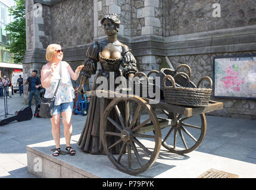
[[[176,71],[173,71],[173,69],[169,69],[169,68],[163,68],[160,70],[158,76],[160,76],[160,84],[157,84],[158,86],[160,86],[161,90],[163,90],[163,78],[166,77],[166,75],[171,75],[171,77],[174,77],[176,74],[177,74],[177,71],[182,68],[182,67],[185,67],[186,69],[188,69],[188,75],[189,77],[191,77],[191,68],[186,65],[186,64],[180,64]],[[186,84],[187,84],[187,80],[186,80],[186,77],[184,77],[183,75],[179,75],[179,77],[176,78],[175,80],[176,82],[176,86],[177,87],[187,87]],[[166,81],[166,84],[169,86],[171,85],[171,81],[167,79]],[[196,88],[196,85],[192,82],[192,81],[189,81],[189,88]]]

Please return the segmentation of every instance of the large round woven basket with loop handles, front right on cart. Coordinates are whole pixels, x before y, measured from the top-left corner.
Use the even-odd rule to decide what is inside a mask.
[[[177,87],[176,78],[179,75],[183,75],[187,79],[187,87]],[[166,86],[166,80],[171,81],[171,86]],[[199,88],[199,85],[202,81],[208,80],[210,83],[210,88]],[[213,87],[213,81],[210,77],[203,77],[199,80],[196,88],[190,88],[189,86],[189,77],[184,72],[179,72],[174,78],[171,75],[166,75],[163,78],[163,87],[164,87],[164,100],[167,103],[172,105],[180,106],[191,106],[191,107],[205,107],[208,105],[210,100],[211,91]]]

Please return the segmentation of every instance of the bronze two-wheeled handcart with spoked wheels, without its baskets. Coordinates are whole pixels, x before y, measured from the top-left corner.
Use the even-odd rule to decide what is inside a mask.
[[[86,91],[86,94],[96,96],[98,92]],[[105,94],[104,97],[113,99],[101,119],[101,139],[104,151],[119,170],[130,175],[137,175],[149,169],[157,160],[161,145],[176,154],[186,154],[198,148],[207,131],[205,113],[223,108],[222,102],[212,100],[206,107],[185,107],[170,105],[164,100],[157,104],[152,102],[149,104],[147,98],[117,97],[117,93],[113,91],[100,92]],[[123,114],[117,106],[120,102],[125,105]],[[157,116],[157,112],[160,112],[157,110],[162,110],[166,117]],[[111,111],[117,113],[120,122],[117,123],[111,118]],[[144,121],[142,115],[146,117]],[[199,122],[195,117],[198,117]],[[113,124],[118,132],[108,131],[107,122]],[[161,130],[168,130],[168,132],[165,131],[167,135],[164,138],[162,138]],[[120,139],[114,144],[107,144],[106,138],[111,136],[117,136]],[[119,143],[121,143],[120,153],[112,154],[109,151],[110,148]],[[177,146],[177,143],[180,145]]]

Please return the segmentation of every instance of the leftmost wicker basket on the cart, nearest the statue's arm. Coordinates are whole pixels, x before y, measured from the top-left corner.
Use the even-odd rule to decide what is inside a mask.
[[[156,72],[158,74],[158,71],[151,71],[148,73],[148,75],[143,72],[136,72],[134,77],[143,76],[143,78],[140,78],[139,80],[135,80],[135,82],[133,82],[133,94],[139,97],[153,98],[155,92],[155,80],[148,80],[148,77],[152,72]]]

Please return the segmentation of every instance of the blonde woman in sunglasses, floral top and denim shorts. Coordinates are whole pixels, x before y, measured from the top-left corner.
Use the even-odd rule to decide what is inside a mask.
[[[71,66],[67,62],[62,61],[62,59],[63,50],[61,49],[61,46],[57,44],[49,45],[46,49],[46,60],[48,63],[43,65],[41,78],[43,88],[45,88],[45,98],[54,96],[54,91],[60,80],[54,104],[54,114],[51,118],[52,136],[55,141],[55,151],[52,153],[52,156],[59,156],[60,154],[61,116],[64,125],[66,142],[65,150],[73,156],[76,154],[76,151],[70,146],[70,140],[72,134],[71,115],[73,110],[73,99],[75,96],[71,80],[77,80],[83,65],[77,66],[76,71],[74,72]]]

